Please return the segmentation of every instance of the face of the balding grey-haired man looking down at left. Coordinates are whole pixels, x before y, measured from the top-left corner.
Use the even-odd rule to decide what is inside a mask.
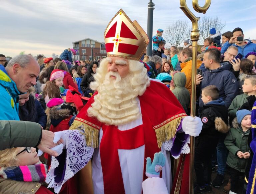
[[[22,68],[19,64],[14,64],[12,80],[15,82],[18,91],[25,93],[31,86],[36,85],[36,78],[39,72],[40,66],[35,59],[31,59],[25,68]]]

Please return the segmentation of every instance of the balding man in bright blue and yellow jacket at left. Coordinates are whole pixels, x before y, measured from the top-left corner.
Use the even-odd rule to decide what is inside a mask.
[[[0,65],[0,120],[19,119],[19,95],[36,84],[40,66],[30,55],[18,55]]]

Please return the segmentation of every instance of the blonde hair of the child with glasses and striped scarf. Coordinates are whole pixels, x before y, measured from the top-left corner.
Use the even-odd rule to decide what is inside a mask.
[[[8,148],[0,151],[0,167],[10,167],[18,165],[18,147]]]

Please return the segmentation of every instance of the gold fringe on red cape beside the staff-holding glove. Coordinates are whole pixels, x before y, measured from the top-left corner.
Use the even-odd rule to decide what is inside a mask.
[[[170,122],[167,122],[162,126],[160,124],[159,128],[156,128],[156,126],[154,126],[154,129],[156,131],[158,148],[160,148],[166,140],[169,140],[175,136],[176,130],[181,122],[181,119],[184,117],[185,116],[174,118],[173,120],[171,120]],[[166,121],[164,121],[163,123],[165,122]]]

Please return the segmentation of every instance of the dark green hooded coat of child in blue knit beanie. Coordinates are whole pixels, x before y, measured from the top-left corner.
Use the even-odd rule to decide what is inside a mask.
[[[251,129],[247,130],[246,133],[244,133],[241,129],[241,126],[238,125],[236,118],[233,120],[232,124],[234,127],[230,129],[226,136],[226,139],[224,140],[224,144],[229,150],[227,165],[240,172],[245,172],[248,159],[239,158],[237,156],[237,152],[251,152],[250,147],[247,143],[247,139]]]

